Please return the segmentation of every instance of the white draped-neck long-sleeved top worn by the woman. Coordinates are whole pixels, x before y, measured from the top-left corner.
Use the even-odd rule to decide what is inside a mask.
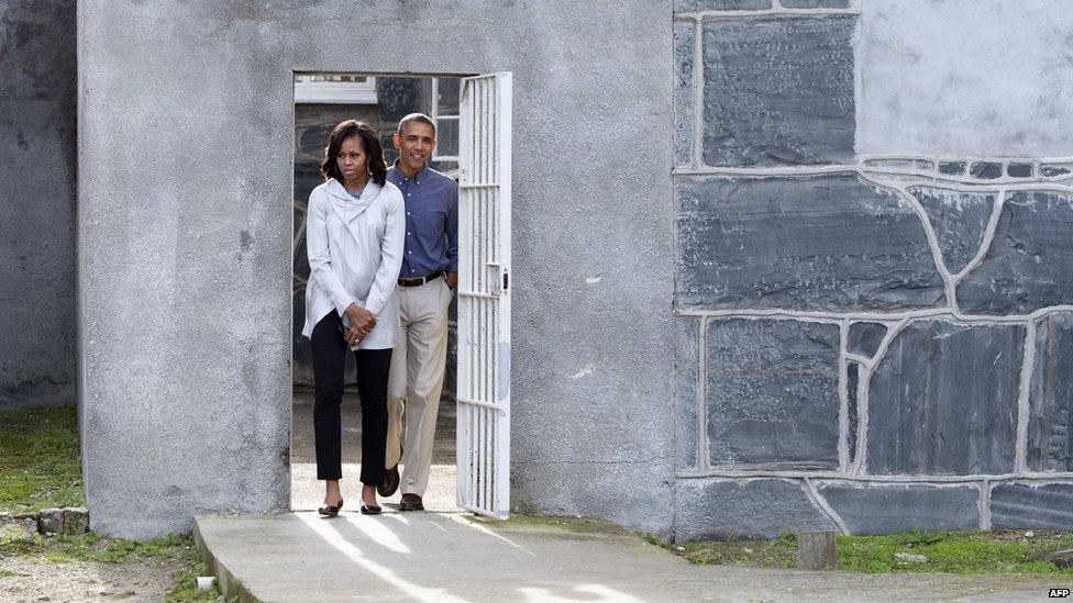
[[[402,193],[390,182],[369,181],[361,199],[334,179],[313,189],[306,210],[309,282],[302,335],[312,336],[333,310],[350,326],[346,308],[354,303],[376,314],[376,326],[358,348],[395,347],[405,231]]]

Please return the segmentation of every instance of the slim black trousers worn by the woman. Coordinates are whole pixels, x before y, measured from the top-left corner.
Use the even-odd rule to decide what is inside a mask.
[[[317,387],[313,436],[319,480],[343,477],[341,405],[343,369],[350,346],[343,338],[342,326],[339,313],[332,311],[317,323],[310,337]],[[387,376],[391,368],[391,348],[357,349],[354,359],[357,360],[357,395],[362,399],[362,483],[378,485],[384,481],[387,447]]]

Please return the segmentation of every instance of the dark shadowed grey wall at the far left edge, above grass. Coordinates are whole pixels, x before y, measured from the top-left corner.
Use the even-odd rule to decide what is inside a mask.
[[[0,1],[0,409],[75,403],[75,2]]]

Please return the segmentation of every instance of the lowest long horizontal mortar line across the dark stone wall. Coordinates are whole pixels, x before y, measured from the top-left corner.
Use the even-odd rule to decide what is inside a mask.
[[[838,471],[790,471],[763,469],[709,469],[707,471],[677,471],[676,479],[683,480],[763,480],[763,479],[812,479],[821,481],[852,481],[858,483],[922,483],[930,485],[959,485],[965,483],[978,484],[982,480],[988,482],[1032,482],[1037,487],[1048,483],[1069,483],[1073,472],[1054,473],[996,473],[971,476],[936,476],[917,473],[859,476]]]

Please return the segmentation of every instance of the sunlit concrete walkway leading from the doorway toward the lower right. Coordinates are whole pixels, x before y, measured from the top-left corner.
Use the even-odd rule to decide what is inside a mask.
[[[195,538],[223,594],[239,601],[1032,601],[1046,585],[1069,585],[1066,577],[696,567],[601,521],[388,506],[331,520],[204,515]]]

